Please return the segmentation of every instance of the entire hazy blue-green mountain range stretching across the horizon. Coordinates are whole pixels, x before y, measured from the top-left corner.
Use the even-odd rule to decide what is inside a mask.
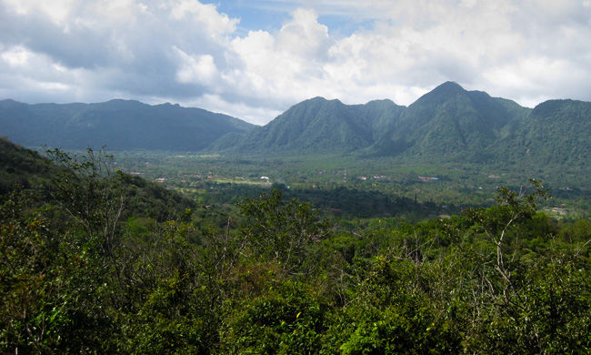
[[[137,101],[0,101],[0,135],[25,146],[207,151],[227,156],[350,154],[400,161],[548,164],[588,169],[591,103],[519,106],[446,82],[410,106],[315,97],[264,127],[198,108]]]

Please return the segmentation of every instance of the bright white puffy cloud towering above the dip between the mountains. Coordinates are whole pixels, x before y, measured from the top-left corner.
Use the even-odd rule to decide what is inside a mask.
[[[226,79],[244,96],[263,95],[271,101],[314,96],[323,86],[322,66],[331,45],[316,13],[298,9],[275,34],[259,30],[235,38],[230,48],[242,67]]]

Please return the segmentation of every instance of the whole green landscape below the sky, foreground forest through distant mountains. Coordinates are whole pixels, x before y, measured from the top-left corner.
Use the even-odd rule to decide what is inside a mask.
[[[591,350],[590,107],[2,101],[0,350]]]

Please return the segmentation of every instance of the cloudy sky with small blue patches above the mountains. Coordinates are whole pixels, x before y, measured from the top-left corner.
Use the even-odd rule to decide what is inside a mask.
[[[591,101],[591,0],[0,0],[0,99],[136,99],[264,125],[446,81]]]

